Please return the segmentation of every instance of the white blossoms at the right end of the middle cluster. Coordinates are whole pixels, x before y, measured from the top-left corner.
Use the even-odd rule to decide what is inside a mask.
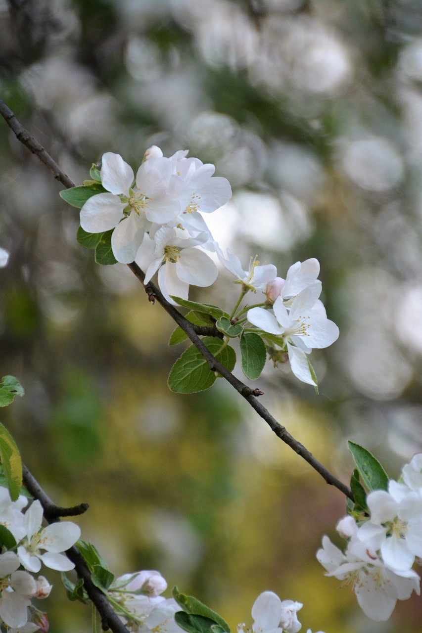
[[[275,273],[266,280],[265,294],[272,308],[248,310],[248,321],[266,333],[274,365],[288,362],[295,376],[310,385],[317,383],[308,354],[313,348],[328,347],[338,338],[338,327],[327,318],[319,301],[322,284],[318,275],[317,260],[297,261],[290,266],[286,279]]]

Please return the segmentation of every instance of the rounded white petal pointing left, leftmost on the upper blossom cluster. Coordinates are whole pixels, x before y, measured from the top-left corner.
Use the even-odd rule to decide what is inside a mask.
[[[80,210],[80,226],[88,233],[109,231],[123,217],[125,204],[113,194],[96,194]]]

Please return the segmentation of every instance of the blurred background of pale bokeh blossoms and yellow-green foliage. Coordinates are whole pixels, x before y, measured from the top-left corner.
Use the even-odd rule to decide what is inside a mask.
[[[75,182],[105,151],[137,168],[151,144],[186,148],[233,186],[207,218],[222,246],[281,276],[321,261],[341,335],[312,354],[320,395],[269,364],[258,385],[345,481],[346,438],[392,477],[422,450],[421,87],[418,0],[0,1],[1,96]],[[305,630],[419,631],[421,599],[377,625],[324,577],[340,492],[221,381],[169,392],[174,326],[127,267],[94,265],[5,123],[0,163],[1,375],[26,390],[2,419],[56,503],[89,502],[84,538],[113,571],[157,568],[233,627],[272,589]],[[233,288],[221,272],[191,296],[229,306]],[[55,584],[51,630],[89,631]]]

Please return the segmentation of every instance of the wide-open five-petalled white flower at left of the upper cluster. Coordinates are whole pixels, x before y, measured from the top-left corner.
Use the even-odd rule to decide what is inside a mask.
[[[152,223],[169,222],[180,211],[179,200],[168,191],[172,164],[163,156],[148,158],[137,170],[134,186],[131,166],[119,154],[106,152],[100,173],[108,193],[86,201],[80,210],[80,226],[89,233],[115,229],[113,254],[117,261],[130,263]]]

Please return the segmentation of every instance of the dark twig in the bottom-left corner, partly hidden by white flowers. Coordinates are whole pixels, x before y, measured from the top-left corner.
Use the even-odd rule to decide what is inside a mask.
[[[22,474],[25,488],[41,503],[46,520],[49,523],[56,523],[58,521],[56,515],[57,506],[54,505],[46,491],[42,489],[34,475],[32,475],[26,466],[23,466]],[[54,515],[56,516],[54,517]],[[89,571],[89,568],[87,567],[84,557],[80,553],[79,549],[74,545],[66,551],[66,556],[72,561],[72,563],[74,563],[75,570],[77,571],[79,577],[84,579],[84,589],[95,605],[99,615],[101,615],[103,629],[112,629],[113,633],[129,633],[125,625],[113,611],[113,608],[108,602],[105,594],[103,594],[103,592],[93,584],[93,581],[91,580],[91,572]]]

